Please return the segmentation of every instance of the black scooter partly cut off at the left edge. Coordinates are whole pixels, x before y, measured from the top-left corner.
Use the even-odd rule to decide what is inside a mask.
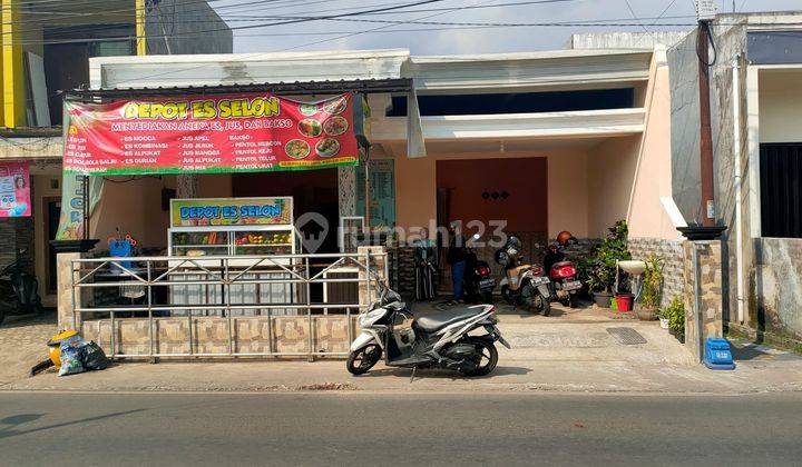
[[[7,315],[39,314],[41,310],[39,281],[28,274],[22,259],[17,258],[0,271],[0,325]]]

